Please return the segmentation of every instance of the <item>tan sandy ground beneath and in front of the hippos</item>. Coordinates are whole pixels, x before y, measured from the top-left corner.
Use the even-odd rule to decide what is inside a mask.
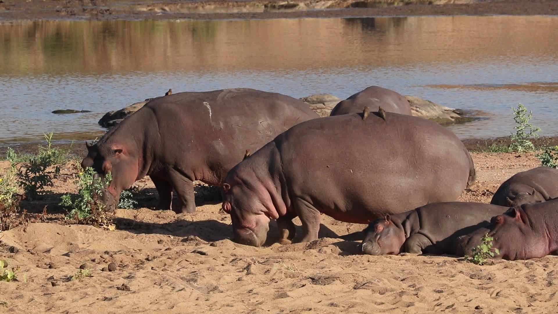
[[[463,201],[489,202],[499,184],[538,165],[534,154],[472,154],[477,183]],[[0,167],[6,166],[0,164]],[[1,313],[551,313],[558,259],[489,261],[452,256],[359,255],[338,236],[364,225],[321,216],[321,239],[252,248],[235,244],[220,203],[194,214],[117,210],[116,231],[71,225],[56,197],[74,191],[72,167],[31,222],[0,233],[0,258],[26,282],[0,282]],[[146,179],[142,204],[155,206]],[[300,221],[295,221],[300,225]],[[272,223],[272,231],[274,230]],[[10,253],[16,252],[16,253]],[[103,271],[110,263],[113,271]],[[85,265],[84,265],[85,264]],[[49,268],[52,265],[52,268]],[[90,277],[74,278],[80,270]],[[55,286],[53,286],[53,284]]]

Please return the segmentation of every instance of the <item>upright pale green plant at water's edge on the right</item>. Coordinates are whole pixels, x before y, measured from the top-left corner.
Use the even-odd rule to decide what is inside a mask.
[[[532,137],[538,137],[537,133],[541,131],[540,128],[533,126],[529,121],[533,117],[533,112],[529,111],[523,104],[519,103],[517,108],[512,108],[513,120],[516,121],[515,134],[510,136],[512,144],[509,145],[509,150],[521,153],[522,151],[535,150],[535,145],[529,140]]]

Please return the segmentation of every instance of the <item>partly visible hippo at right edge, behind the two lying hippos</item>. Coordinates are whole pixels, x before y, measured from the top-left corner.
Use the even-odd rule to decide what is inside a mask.
[[[540,166],[514,174],[502,183],[490,204],[514,207],[558,197],[558,169]]]

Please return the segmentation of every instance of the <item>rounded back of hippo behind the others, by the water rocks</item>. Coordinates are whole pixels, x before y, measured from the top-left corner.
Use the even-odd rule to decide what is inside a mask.
[[[364,106],[367,106],[370,111],[378,111],[381,106],[387,112],[411,115],[411,105],[405,97],[390,89],[378,86],[367,87],[344,101],[340,101],[329,115],[339,116],[362,112]]]

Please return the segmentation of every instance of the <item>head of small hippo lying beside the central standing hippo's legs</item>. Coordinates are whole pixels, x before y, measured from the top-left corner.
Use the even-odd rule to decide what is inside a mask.
[[[364,232],[362,251],[369,255],[399,254],[405,243],[405,232],[386,215],[371,222]]]

